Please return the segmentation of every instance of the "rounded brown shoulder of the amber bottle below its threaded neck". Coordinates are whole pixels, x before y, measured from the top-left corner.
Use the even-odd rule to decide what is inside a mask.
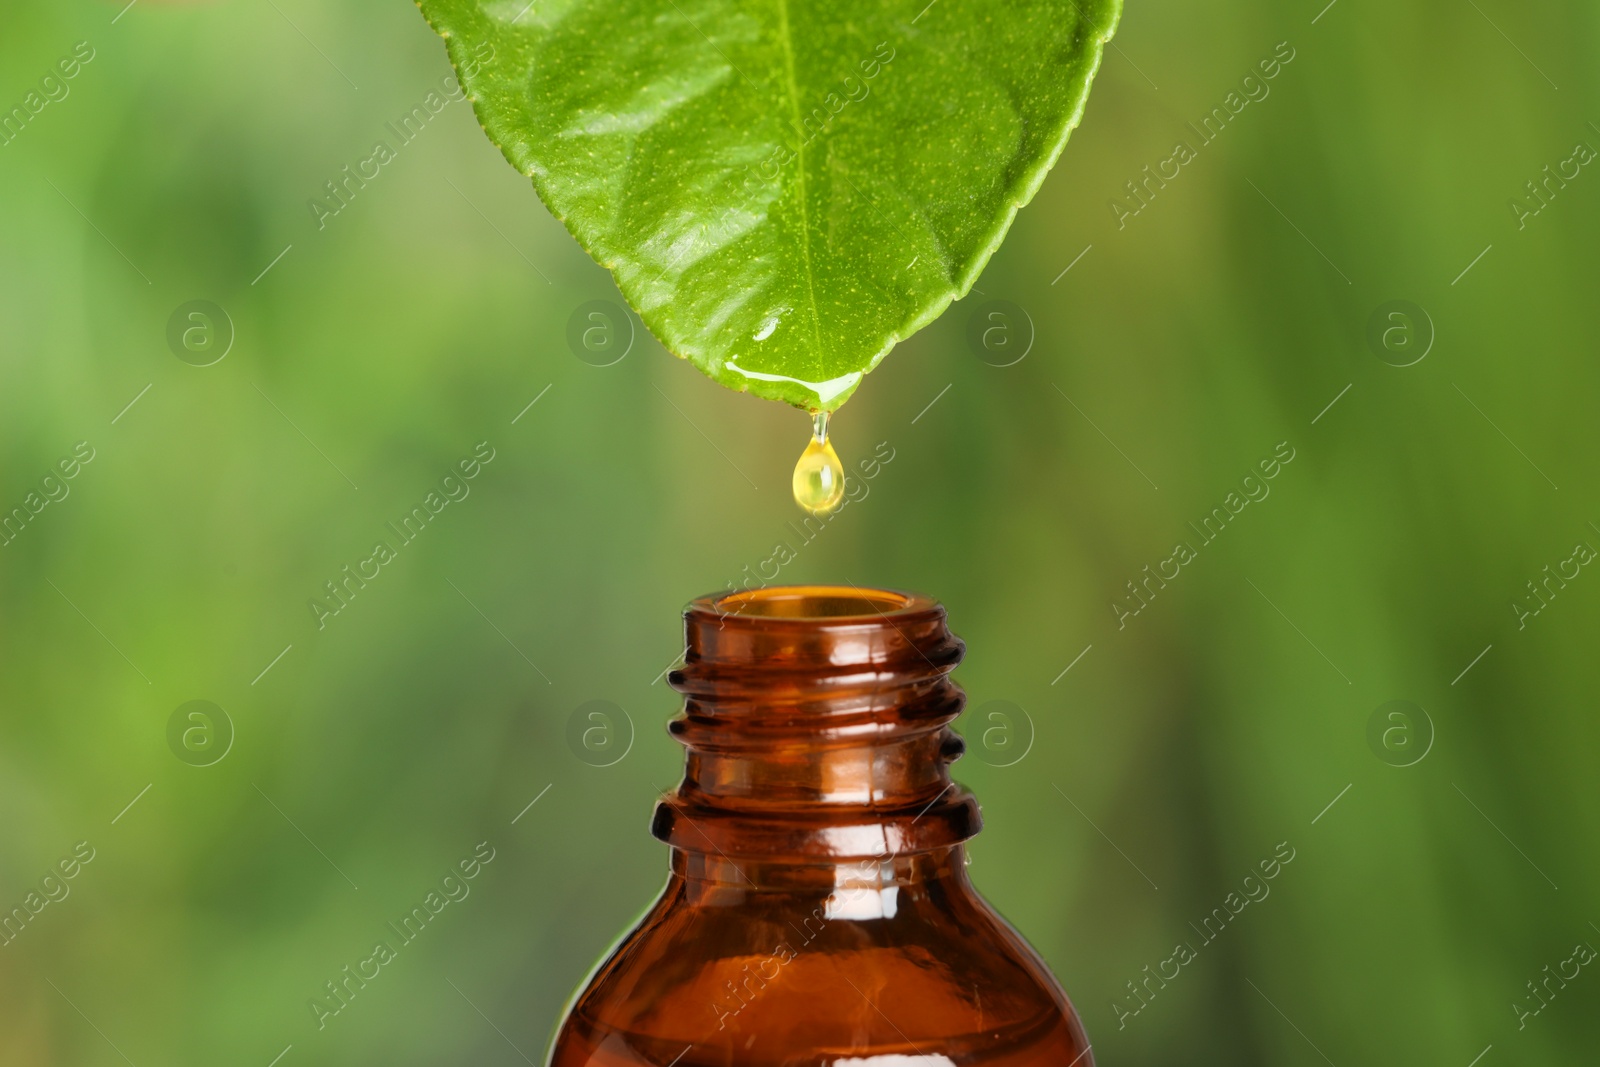
[[[618,944],[573,1005],[552,1064],[598,1062],[574,1051],[592,1053],[595,1040],[651,1043],[651,1053],[677,1043],[658,1062],[686,1048],[739,1053],[741,1062],[766,1062],[757,1048],[808,1049],[794,1061],[808,1064],[826,1051],[848,1059],[939,1048],[947,1059],[930,1065],[1003,1064],[1006,1048],[1053,1041],[1072,1049],[1067,1064],[1086,1049],[1050,971],[965,880],[843,897],[690,896],[674,878]],[[789,1062],[782,1056],[771,1062]]]

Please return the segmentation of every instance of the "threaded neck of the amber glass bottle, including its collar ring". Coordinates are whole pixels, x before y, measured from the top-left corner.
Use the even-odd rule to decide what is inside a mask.
[[[670,675],[685,776],[653,824],[685,877],[749,885],[750,867],[795,867],[832,873],[771,877],[834,880],[885,862],[914,877],[934,867],[901,859],[949,864],[978,832],[978,801],[949,776],[963,749],[949,728],[963,645],[933,600],[854,587],[707,597],[685,611],[685,649]]]

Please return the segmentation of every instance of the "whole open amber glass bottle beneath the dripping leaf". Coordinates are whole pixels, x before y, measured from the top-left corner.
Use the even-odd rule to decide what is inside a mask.
[[[963,645],[926,597],[696,600],[672,873],[573,1000],[552,1067],[1091,1067],[1043,961],[973,889],[949,776]]]

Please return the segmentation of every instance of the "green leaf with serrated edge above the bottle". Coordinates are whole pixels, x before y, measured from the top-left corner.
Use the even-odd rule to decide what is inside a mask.
[[[490,139],[661,342],[813,411],[966,294],[1061,155],[1122,10],[418,3]]]

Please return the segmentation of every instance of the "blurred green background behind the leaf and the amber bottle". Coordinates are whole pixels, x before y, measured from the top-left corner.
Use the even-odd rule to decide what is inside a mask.
[[[971,870],[1101,1064],[1592,1062],[1600,974],[1538,1014],[1526,984],[1600,945],[1600,174],[1525,184],[1600,146],[1600,16],[1323,3],[1130,3],[982,291],[837,418],[846,461],[894,459],[781,579],[949,606]],[[462,102],[317,227],[450,74],[406,3],[5,19],[5,109],[93,59],[0,146],[0,507],[27,514],[0,905],[40,905],[0,947],[0,1061],[539,1061],[664,878],[678,609],[794,541],[805,416],[642,330],[579,360],[568,320],[616,291]],[[1186,123],[1283,42],[1202,146]],[[208,366],[168,342],[197,299],[230,322]],[[470,494],[318,629],[307,601],[480,442]],[[1197,558],[1118,627],[1178,541]],[[610,766],[568,742],[597,699],[616,745],[632,725]],[[208,766],[168,741],[189,701],[232,725]],[[318,1029],[310,998],[480,841],[470,896]],[[1134,1000],[1280,843],[1270,896]]]

